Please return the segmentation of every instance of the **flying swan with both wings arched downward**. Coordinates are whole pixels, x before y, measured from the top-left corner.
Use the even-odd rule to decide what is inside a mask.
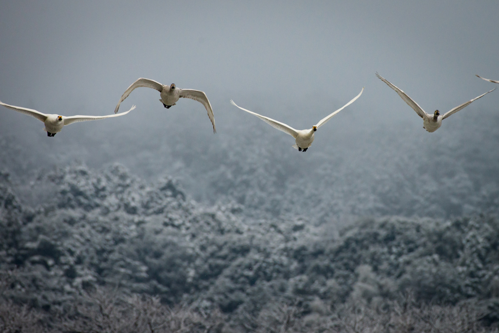
[[[171,85],[163,85],[159,82],[143,77],[137,79],[137,81],[133,82],[132,85],[130,85],[128,89],[125,90],[120,98],[120,101],[118,102],[118,105],[116,105],[116,109],[114,109],[114,113],[118,112],[121,102],[125,100],[128,95],[130,95],[133,89],[138,87],[153,88],[161,92],[160,102],[163,103],[163,105],[167,109],[174,106],[180,97],[191,98],[198,102],[201,102],[205,106],[206,111],[208,112],[208,117],[212,122],[213,133],[217,132],[217,130],[215,129],[215,116],[213,115],[212,105],[210,104],[208,97],[203,91],[194,89],[180,89],[175,87],[175,83],[172,83]]]

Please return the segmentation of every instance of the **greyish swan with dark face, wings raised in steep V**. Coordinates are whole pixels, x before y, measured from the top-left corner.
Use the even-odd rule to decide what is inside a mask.
[[[487,95],[489,92],[492,92],[494,91],[496,88],[492,89],[491,91],[488,91],[486,92],[485,94],[482,94],[478,97],[475,97],[473,98],[472,100],[469,100],[468,102],[466,103],[463,103],[459,106],[456,106],[455,108],[453,108],[452,110],[450,111],[447,111],[446,113],[444,113],[443,115],[440,114],[439,110],[435,110],[435,112],[433,113],[433,115],[429,114],[429,113],[426,113],[422,108],[421,106],[418,105],[418,103],[416,103],[411,97],[409,97],[404,91],[402,91],[401,89],[397,88],[395,85],[393,85],[392,83],[390,83],[387,79],[385,79],[384,77],[382,77],[381,75],[379,75],[378,73],[376,73],[376,76],[381,79],[383,82],[385,82],[386,84],[388,84],[388,86],[390,88],[392,88],[393,90],[395,90],[400,97],[402,97],[402,99],[410,106],[414,109],[414,111],[416,111],[416,113],[421,117],[423,118],[423,128],[426,129],[428,132],[435,132],[437,129],[439,129],[440,126],[442,126],[442,120],[449,117],[451,114],[453,113],[456,113],[458,112],[459,110],[462,110],[464,109],[465,107],[467,107],[468,105],[470,105],[473,101],[479,99],[480,97],[483,97],[485,95]]]

